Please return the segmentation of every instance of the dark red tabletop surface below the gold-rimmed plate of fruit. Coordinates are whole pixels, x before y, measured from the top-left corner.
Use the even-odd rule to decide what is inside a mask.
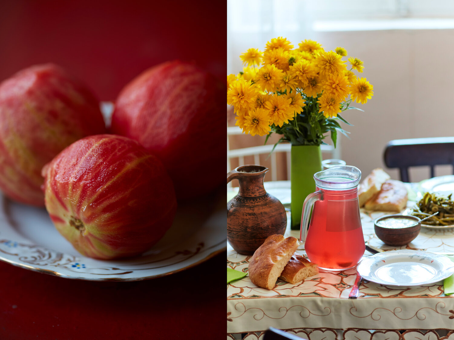
[[[0,339],[224,339],[226,256],[135,282],[69,280],[0,262]]]

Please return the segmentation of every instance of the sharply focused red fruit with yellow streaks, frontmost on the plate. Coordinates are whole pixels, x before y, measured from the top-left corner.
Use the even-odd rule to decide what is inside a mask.
[[[142,254],[172,225],[173,183],[161,161],[115,135],[82,138],[43,168],[46,209],[82,255]]]

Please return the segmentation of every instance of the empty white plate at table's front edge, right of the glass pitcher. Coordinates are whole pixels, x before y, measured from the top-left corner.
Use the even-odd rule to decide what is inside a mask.
[[[444,280],[454,273],[454,262],[428,251],[384,251],[363,259],[358,273],[367,281],[385,286],[412,287]]]

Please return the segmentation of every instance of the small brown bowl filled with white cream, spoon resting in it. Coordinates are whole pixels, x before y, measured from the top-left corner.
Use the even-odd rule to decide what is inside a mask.
[[[404,223],[412,224],[412,222],[416,224],[410,227],[397,227]],[[385,244],[404,246],[418,236],[421,230],[421,219],[416,216],[388,215],[377,218],[374,221],[374,228],[375,235]]]

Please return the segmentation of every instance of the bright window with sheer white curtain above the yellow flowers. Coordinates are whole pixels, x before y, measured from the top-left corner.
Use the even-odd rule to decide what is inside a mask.
[[[227,0],[227,74],[242,70],[240,54],[249,48],[263,50],[271,38],[286,37],[297,47],[301,40],[316,39],[317,31],[343,30],[341,27],[352,30],[351,25],[345,26],[345,23],[355,22],[353,30],[361,30],[361,25],[371,21],[415,18],[432,19],[431,26],[441,20],[444,26],[440,28],[451,28],[454,26],[454,1]],[[426,24],[423,21],[415,24],[413,20],[411,29]],[[408,29],[401,23],[396,27]],[[364,29],[375,30],[377,26]]]

